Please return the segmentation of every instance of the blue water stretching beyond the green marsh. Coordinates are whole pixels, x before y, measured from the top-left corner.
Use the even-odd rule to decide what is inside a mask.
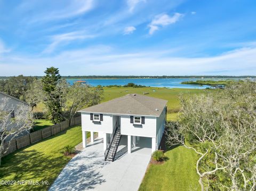
[[[167,87],[167,88],[195,88],[205,89],[209,86],[198,86],[181,84],[182,81],[196,81],[202,80],[201,78],[136,78],[136,79],[67,79],[70,85],[73,85],[77,80],[84,80],[91,86],[109,86],[119,85],[123,86],[128,83],[134,83],[137,85],[151,86],[151,87]],[[204,79],[207,80],[207,79]],[[210,79],[210,80],[221,80],[221,79]]]

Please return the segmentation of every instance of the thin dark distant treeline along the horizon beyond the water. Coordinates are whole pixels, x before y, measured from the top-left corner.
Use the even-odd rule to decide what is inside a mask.
[[[42,78],[42,76],[35,76]],[[125,79],[125,78],[256,78],[256,76],[62,76],[66,79]],[[0,77],[7,79],[10,77]]]

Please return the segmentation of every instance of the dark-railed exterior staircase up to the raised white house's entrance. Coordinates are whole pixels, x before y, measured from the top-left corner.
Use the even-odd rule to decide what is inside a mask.
[[[118,148],[118,145],[121,140],[121,130],[116,128],[115,131],[113,132],[113,138],[110,138],[110,142],[107,146],[107,150],[105,151],[105,161],[114,161],[116,151]]]

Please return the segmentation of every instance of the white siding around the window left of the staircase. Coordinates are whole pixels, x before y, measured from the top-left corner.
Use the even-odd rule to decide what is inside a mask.
[[[103,121],[93,122],[90,120],[90,113],[81,113],[82,130],[93,132],[106,132],[111,134],[113,132],[113,118],[112,115],[103,114]]]

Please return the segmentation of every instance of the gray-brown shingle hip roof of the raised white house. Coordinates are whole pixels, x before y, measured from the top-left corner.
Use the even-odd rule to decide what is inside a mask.
[[[127,94],[108,102],[87,107],[78,112],[86,113],[109,113],[125,115],[156,116],[162,113],[167,101],[140,94]]]

